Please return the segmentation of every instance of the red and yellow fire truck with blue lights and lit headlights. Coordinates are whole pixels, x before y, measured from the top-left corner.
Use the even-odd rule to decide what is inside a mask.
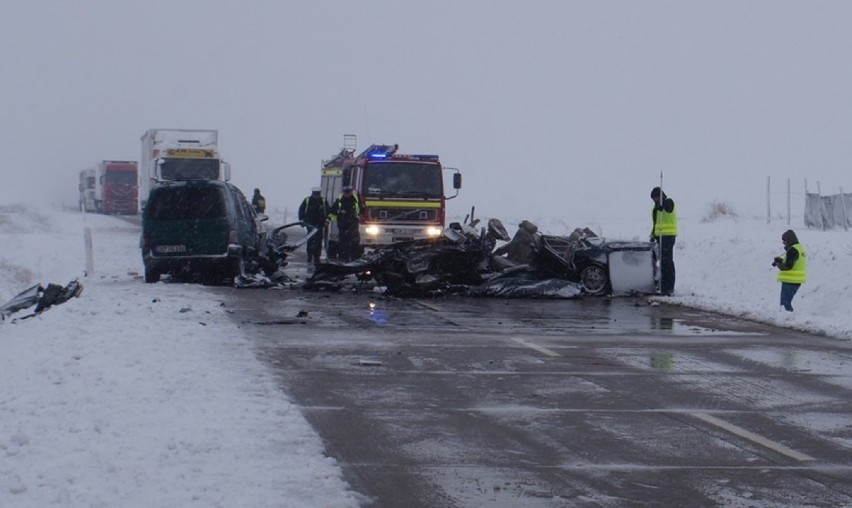
[[[334,205],[344,186],[352,186],[361,201],[361,246],[382,247],[394,242],[440,236],[446,220],[446,200],[458,196],[461,173],[444,168],[437,155],[403,155],[398,145],[372,145],[355,155],[354,135],[323,161],[320,188]],[[444,174],[452,171],[453,196],[444,195]],[[337,226],[328,228],[329,257],[336,257]]]

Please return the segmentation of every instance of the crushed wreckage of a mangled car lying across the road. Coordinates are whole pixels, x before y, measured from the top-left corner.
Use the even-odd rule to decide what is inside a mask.
[[[475,225],[454,223],[438,239],[395,244],[350,263],[322,263],[305,287],[337,288],[355,275],[395,296],[574,298],[654,291],[650,242],[610,241],[588,229],[569,236],[537,234],[528,263],[518,265],[494,254],[497,240],[509,240],[502,222],[491,219],[480,233]]]

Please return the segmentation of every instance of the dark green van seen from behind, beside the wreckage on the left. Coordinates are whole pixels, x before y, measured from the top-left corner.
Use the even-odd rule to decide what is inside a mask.
[[[228,182],[193,180],[155,187],[142,212],[145,282],[161,274],[233,278],[259,246],[258,216]]]

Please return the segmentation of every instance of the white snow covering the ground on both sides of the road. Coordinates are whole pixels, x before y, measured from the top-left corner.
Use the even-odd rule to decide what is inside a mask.
[[[649,213],[590,225],[647,238]],[[645,220],[643,220],[645,219]],[[504,221],[514,233],[517,221]],[[84,228],[94,239],[85,269]],[[667,302],[852,338],[852,233],[794,229],[809,280],[780,310],[785,221],[681,217]],[[144,284],[138,228],[114,217],[0,206],[0,303],[81,277],[80,298],[0,324],[0,506],[358,506],[339,466],[219,301]],[[21,311],[20,318],[30,312]]]

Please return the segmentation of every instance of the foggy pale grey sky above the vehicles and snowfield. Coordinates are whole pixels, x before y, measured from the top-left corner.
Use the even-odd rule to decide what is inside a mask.
[[[341,146],[464,174],[451,212],[765,213],[852,161],[852,2],[9,0],[0,202],[76,203],[151,127],[215,128],[244,192],[292,210]],[[773,197],[780,210],[783,197]],[[795,196],[794,214],[803,197]]]

